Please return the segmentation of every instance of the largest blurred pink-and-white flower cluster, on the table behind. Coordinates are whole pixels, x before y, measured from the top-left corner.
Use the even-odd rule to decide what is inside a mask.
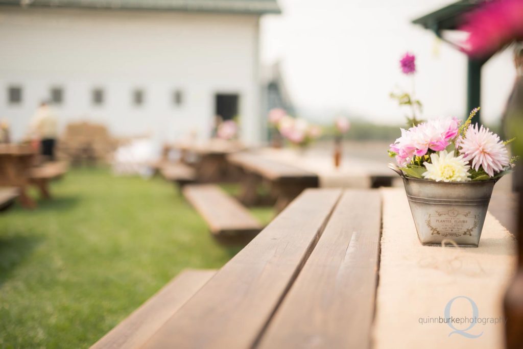
[[[285,115],[278,122],[278,130],[290,143],[305,147],[322,135],[320,126],[310,124],[305,119]]]

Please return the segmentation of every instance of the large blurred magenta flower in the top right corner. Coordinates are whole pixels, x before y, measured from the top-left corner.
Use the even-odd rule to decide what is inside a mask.
[[[514,40],[523,40],[523,1],[493,0],[463,16],[459,30],[469,33],[463,51],[471,56],[492,54]]]

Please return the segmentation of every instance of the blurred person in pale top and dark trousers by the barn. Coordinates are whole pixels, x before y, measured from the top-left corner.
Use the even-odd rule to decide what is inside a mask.
[[[40,106],[33,115],[30,123],[30,130],[33,138],[40,141],[40,154],[49,160],[54,160],[54,147],[56,136],[58,135],[58,120],[56,114],[46,101]]]

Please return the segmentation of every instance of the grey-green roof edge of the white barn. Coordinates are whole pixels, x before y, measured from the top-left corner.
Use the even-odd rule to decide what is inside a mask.
[[[277,0],[0,0],[0,6],[279,14]]]

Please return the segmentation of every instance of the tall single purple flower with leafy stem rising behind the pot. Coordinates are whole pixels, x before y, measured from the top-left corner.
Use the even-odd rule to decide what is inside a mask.
[[[403,74],[410,77],[412,88],[410,92],[403,89],[397,89],[391,92],[390,97],[397,100],[401,107],[408,107],[410,115],[407,115],[407,124],[417,125],[422,122],[419,116],[422,113],[422,102],[415,97],[414,75],[416,74],[416,56],[412,53],[405,53],[400,59],[400,69]]]

